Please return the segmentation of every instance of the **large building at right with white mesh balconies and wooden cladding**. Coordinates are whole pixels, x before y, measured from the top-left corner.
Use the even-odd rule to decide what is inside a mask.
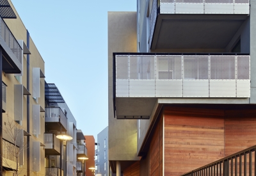
[[[138,0],[137,7],[108,13],[111,170],[252,173],[255,2]]]

